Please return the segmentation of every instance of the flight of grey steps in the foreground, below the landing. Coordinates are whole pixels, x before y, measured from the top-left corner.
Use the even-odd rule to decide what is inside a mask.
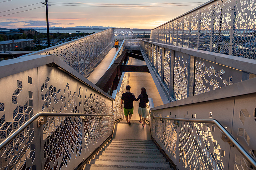
[[[173,170],[152,140],[111,139],[83,170]]]

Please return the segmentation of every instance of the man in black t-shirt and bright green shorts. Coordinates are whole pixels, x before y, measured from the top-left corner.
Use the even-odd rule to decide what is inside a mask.
[[[127,85],[126,86],[126,93],[122,94],[121,97],[121,103],[120,103],[120,107],[121,109],[123,108],[123,103],[124,103],[124,114],[125,114],[125,119],[127,121],[127,124],[131,124],[131,116],[133,115],[133,100],[135,101],[135,96],[133,93],[130,93],[131,90],[131,86]],[[128,118],[128,114],[129,114],[129,118]]]

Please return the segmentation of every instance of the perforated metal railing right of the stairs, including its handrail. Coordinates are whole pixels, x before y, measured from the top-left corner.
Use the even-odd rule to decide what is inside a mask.
[[[152,137],[181,170],[256,169],[255,83],[151,108]]]

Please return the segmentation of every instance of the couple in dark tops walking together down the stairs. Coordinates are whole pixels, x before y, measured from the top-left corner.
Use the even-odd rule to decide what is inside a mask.
[[[142,126],[145,127],[146,117],[148,116],[147,108],[146,108],[147,107],[146,103],[148,102],[148,95],[146,93],[146,89],[144,87],[141,88],[141,94],[138,96],[137,99],[135,95],[130,92],[130,90],[131,90],[131,86],[127,85],[126,93],[122,94],[121,103],[120,103],[121,109],[123,108],[122,105],[124,103],[124,114],[125,114],[126,123],[129,125],[131,124],[130,121],[131,121],[131,116],[133,115],[133,101],[140,100],[139,109],[138,109],[138,114],[140,114],[139,122],[142,123],[141,117],[143,116]]]

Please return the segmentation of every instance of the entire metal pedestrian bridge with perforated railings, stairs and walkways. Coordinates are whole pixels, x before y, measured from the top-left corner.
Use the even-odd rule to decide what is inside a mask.
[[[0,169],[255,170],[256,41],[247,17],[255,7],[212,0],[154,28],[148,40],[111,28],[0,61]],[[120,47],[105,61],[115,38]],[[141,51],[144,61],[123,64],[146,65],[150,74],[122,72],[111,94],[103,91],[90,75],[126,50]],[[145,129],[137,115],[122,123],[128,84],[136,96],[148,85]],[[151,159],[158,149],[169,163]],[[111,167],[116,157],[125,161]]]

